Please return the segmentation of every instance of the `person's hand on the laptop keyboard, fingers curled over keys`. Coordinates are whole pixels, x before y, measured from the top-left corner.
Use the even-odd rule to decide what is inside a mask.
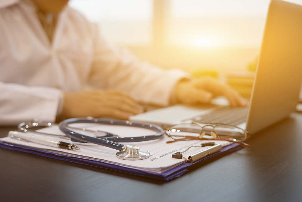
[[[175,88],[176,100],[184,104],[206,104],[220,95],[224,95],[233,107],[247,105],[246,99],[236,90],[211,77],[180,81]]]

